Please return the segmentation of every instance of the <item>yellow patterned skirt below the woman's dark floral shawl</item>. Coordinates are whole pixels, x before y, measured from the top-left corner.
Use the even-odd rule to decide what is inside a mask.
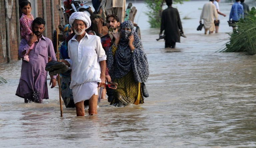
[[[117,89],[113,89],[113,100],[110,105],[125,106],[144,103],[140,83],[135,82],[132,70],[124,77],[114,79],[113,82],[118,83],[118,86]]]

